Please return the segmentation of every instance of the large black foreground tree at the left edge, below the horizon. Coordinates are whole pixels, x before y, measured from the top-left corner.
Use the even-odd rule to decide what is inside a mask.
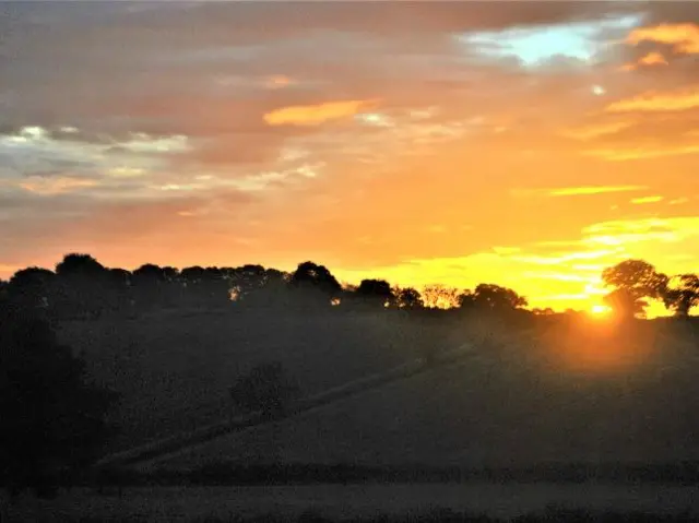
[[[0,488],[46,496],[70,484],[112,432],[105,417],[116,400],[86,381],[47,322],[0,302]]]

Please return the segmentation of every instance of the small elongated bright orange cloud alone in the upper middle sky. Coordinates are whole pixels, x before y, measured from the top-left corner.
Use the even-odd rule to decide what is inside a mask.
[[[293,106],[275,109],[264,115],[270,126],[319,126],[341,120],[375,107],[376,100],[341,100],[324,104]]]

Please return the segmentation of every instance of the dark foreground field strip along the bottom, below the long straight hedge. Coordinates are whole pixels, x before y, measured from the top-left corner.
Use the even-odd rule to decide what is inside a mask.
[[[413,484],[75,490],[16,521],[697,521],[695,486]],[[555,509],[552,509],[554,507]],[[439,508],[439,509],[438,509]],[[470,515],[469,515],[470,514]]]

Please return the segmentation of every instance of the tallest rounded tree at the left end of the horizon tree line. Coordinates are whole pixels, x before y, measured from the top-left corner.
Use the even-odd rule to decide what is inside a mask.
[[[98,317],[104,309],[107,269],[90,254],[66,254],[56,265],[57,308],[68,317]]]

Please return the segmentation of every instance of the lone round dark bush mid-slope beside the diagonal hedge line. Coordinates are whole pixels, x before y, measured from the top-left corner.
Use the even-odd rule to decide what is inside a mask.
[[[273,362],[253,367],[236,381],[229,393],[240,413],[276,416],[289,406],[298,394],[298,387],[289,380],[281,364]]]

